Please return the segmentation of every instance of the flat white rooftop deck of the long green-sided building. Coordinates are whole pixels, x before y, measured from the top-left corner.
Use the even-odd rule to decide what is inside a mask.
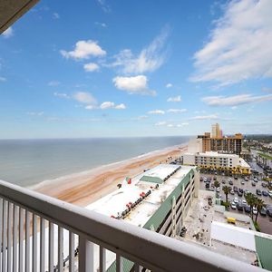
[[[116,189],[109,195],[88,205],[86,209],[99,212],[108,217],[120,218],[132,225],[143,227],[151,219],[155,211],[160,208],[161,203],[170,196],[170,193],[177,188],[180,181],[192,169],[194,167],[160,164],[132,178],[131,182],[128,182],[128,179],[124,180],[120,189]],[[169,178],[167,179],[167,177]],[[149,180],[151,178],[154,180],[167,180],[154,182]],[[127,215],[122,216],[123,211],[137,202],[143,193],[147,194],[149,191],[151,193],[136,204],[134,209],[131,209]]]

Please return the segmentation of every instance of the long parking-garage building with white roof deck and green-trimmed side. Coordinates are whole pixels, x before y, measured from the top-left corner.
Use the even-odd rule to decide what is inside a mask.
[[[175,237],[180,235],[192,199],[198,197],[198,193],[196,167],[160,164],[124,180],[119,189],[86,208]],[[107,271],[115,271],[115,254],[107,251],[107,260]],[[131,271],[133,263],[126,259],[123,262],[125,271]]]

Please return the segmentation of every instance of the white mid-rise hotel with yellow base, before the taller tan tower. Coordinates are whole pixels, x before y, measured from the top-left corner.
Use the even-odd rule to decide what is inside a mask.
[[[225,154],[215,151],[183,154],[183,164],[197,165],[200,169],[231,170],[233,174],[250,174],[248,163],[237,154]]]

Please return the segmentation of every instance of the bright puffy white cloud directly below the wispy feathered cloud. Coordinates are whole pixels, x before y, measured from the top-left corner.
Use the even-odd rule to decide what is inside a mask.
[[[130,94],[156,95],[155,91],[148,88],[148,79],[145,75],[117,76],[112,82],[117,89]]]

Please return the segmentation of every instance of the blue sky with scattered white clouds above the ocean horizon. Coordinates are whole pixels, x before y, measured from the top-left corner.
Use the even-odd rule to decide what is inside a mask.
[[[40,1],[0,35],[0,139],[272,133],[272,1]]]

